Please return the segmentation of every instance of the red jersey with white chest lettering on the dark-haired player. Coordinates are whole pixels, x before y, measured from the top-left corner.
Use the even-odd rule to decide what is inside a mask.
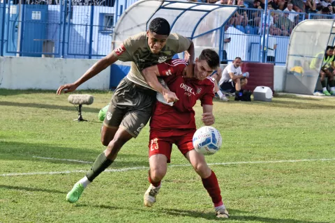
[[[172,59],[157,65],[159,74],[179,100],[173,106],[156,102],[150,120],[150,132],[154,137],[169,137],[172,132],[195,129],[195,112],[193,106],[200,99],[201,105],[213,105],[214,82],[210,79],[202,81],[195,78],[182,77],[187,62]]]

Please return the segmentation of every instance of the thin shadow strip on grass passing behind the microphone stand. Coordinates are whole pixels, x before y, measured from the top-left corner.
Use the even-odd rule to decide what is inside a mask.
[[[65,111],[73,111],[77,112],[75,106],[60,106],[60,105],[45,105],[45,104],[36,104],[36,103],[20,103],[20,102],[0,102],[0,106],[13,106],[13,107],[36,107],[39,109],[56,109],[56,110],[65,110]],[[100,109],[96,109],[93,107],[83,106],[82,112],[93,112],[98,114]]]

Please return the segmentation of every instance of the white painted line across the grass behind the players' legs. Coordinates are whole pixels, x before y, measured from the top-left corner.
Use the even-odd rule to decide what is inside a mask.
[[[48,160],[63,160],[48,158]],[[215,162],[209,163],[209,166],[223,166],[223,165],[234,165],[234,164],[266,164],[266,163],[281,163],[281,162],[318,162],[318,161],[334,161],[335,158],[330,159],[304,159],[304,160],[273,160],[273,161],[246,161],[246,162]],[[77,160],[81,161],[81,160]],[[86,161],[82,161],[86,162]],[[190,167],[191,164],[175,164],[169,165],[168,167]],[[149,167],[127,167],[121,169],[106,169],[105,172],[126,172],[132,170],[148,169]],[[31,173],[10,173],[0,174],[0,176],[31,176],[31,175],[53,175],[53,174],[73,174],[73,173],[86,173],[87,170],[71,170],[71,171],[53,171],[53,172],[31,172]]]

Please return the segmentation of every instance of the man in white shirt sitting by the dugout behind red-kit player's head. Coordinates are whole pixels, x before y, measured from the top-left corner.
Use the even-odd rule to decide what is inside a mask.
[[[249,76],[248,73],[242,74],[241,62],[241,58],[236,57],[232,63],[225,67],[220,82],[218,82],[223,91],[235,93],[235,97],[239,95],[241,88],[248,83]]]

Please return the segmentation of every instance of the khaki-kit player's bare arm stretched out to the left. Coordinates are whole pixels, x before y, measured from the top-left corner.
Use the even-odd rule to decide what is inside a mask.
[[[98,60],[96,63],[94,63],[87,72],[82,75],[77,81],[75,81],[72,84],[64,84],[59,86],[59,89],[57,90],[57,95],[60,95],[62,91],[64,93],[72,92],[77,89],[80,84],[86,82],[88,79],[91,79],[92,77],[98,75],[99,72],[105,70],[108,66],[112,65],[112,63],[115,63],[117,61],[117,56],[115,56],[114,51],[110,52],[107,56],[105,56],[103,59]]]

